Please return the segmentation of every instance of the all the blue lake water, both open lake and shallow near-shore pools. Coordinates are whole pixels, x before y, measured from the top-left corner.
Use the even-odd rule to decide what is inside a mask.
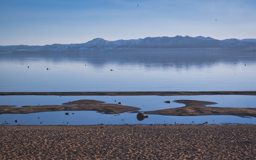
[[[28,67],[29,66],[29,67]],[[48,68],[48,70],[47,70]],[[256,53],[202,50],[128,50],[88,54],[1,54],[0,92],[72,91],[255,91]],[[255,108],[255,96],[0,96],[0,105],[61,104],[94,99],[141,108],[141,111],[184,106],[166,100],[212,101],[219,107]],[[2,114],[0,124],[256,124],[238,116],[149,115],[138,121],[134,113],[118,116],[94,111]],[[40,117],[40,119],[38,119]],[[14,122],[18,119],[18,123]],[[40,123],[41,122],[41,123]],[[67,123],[68,122],[68,123]]]

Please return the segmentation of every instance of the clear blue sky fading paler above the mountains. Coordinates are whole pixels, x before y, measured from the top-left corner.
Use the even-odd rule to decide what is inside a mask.
[[[255,0],[1,0],[0,45],[256,38]]]

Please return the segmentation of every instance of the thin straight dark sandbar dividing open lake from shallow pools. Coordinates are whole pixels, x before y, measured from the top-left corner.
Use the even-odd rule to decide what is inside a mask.
[[[0,95],[256,95],[256,91],[0,92]]]

